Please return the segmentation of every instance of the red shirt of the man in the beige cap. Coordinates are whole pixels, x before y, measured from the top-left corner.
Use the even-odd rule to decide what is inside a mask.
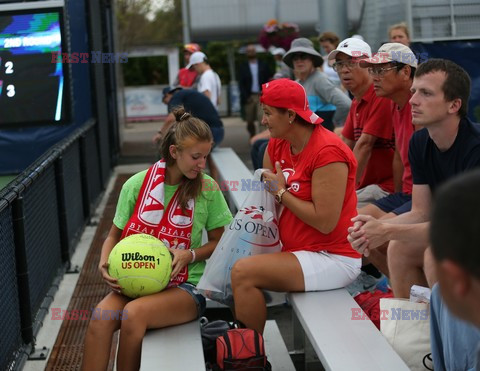
[[[415,127],[412,124],[412,106],[407,101],[405,106],[399,109],[398,105],[392,102],[392,110],[396,145],[403,163],[402,192],[412,194],[412,170],[408,161],[408,144],[415,131]]]

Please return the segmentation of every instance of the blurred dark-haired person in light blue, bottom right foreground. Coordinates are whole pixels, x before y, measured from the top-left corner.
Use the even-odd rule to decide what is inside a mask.
[[[480,171],[475,170],[435,195],[430,228],[438,277],[430,319],[435,371],[473,370],[475,363],[480,370],[479,189]]]

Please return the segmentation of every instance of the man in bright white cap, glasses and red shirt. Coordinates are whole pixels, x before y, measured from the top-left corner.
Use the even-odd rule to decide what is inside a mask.
[[[358,38],[343,40],[328,55],[329,61],[335,61],[333,69],[338,73],[343,87],[354,97],[341,135],[358,162],[357,208],[395,191],[392,103],[389,99],[375,95],[372,77],[366,69],[359,66],[361,59],[371,56],[370,46]],[[374,266],[366,264],[356,282],[347,289],[352,294],[371,289],[382,278]]]

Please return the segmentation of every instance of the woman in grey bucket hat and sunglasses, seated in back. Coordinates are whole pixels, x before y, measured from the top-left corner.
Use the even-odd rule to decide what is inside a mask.
[[[352,101],[317,69],[322,66],[323,58],[313,43],[305,38],[293,40],[283,61],[293,68],[297,81],[307,92],[311,110],[323,119],[323,126],[333,131],[334,124],[343,125]]]

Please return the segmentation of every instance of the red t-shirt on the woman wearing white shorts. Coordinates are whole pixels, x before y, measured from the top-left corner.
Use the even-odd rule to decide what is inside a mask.
[[[312,201],[312,174],[315,169],[333,162],[348,165],[345,199],[335,229],[329,234],[323,234],[305,224],[285,207],[279,220],[283,251],[325,250],[332,254],[359,258],[360,254],[347,241],[347,228],[352,225],[350,219],[357,215],[357,161],[350,148],[322,125],[316,126],[307,145],[297,155],[291,153],[290,143],[282,139],[270,139],[267,148],[272,164],[280,162],[289,192],[305,201]]]

